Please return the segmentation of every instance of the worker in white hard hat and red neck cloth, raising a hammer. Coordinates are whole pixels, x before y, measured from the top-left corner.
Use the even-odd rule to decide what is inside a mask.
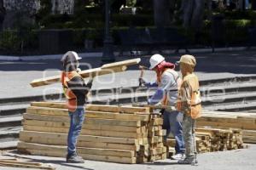
[[[150,70],[156,72],[157,82],[147,83],[140,78],[140,84],[146,87],[157,87],[155,94],[148,99],[149,105],[168,105],[175,106],[177,102],[177,88],[181,81],[177,71],[174,71],[175,65],[165,61],[160,54],[154,54],[150,60]],[[161,111],[164,118],[163,128],[166,129],[165,141],[169,134],[172,133],[176,139],[176,154],[172,159],[180,160],[184,156],[184,142],[182,124],[177,122],[177,111]]]

